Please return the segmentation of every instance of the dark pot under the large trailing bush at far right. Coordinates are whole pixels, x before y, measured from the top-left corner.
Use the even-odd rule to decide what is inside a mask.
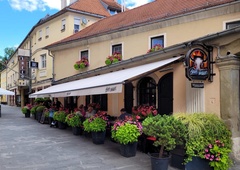
[[[193,157],[192,161],[188,162],[185,166],[185,170],[213,170],[210,167],[209,161],[200,157]]]

